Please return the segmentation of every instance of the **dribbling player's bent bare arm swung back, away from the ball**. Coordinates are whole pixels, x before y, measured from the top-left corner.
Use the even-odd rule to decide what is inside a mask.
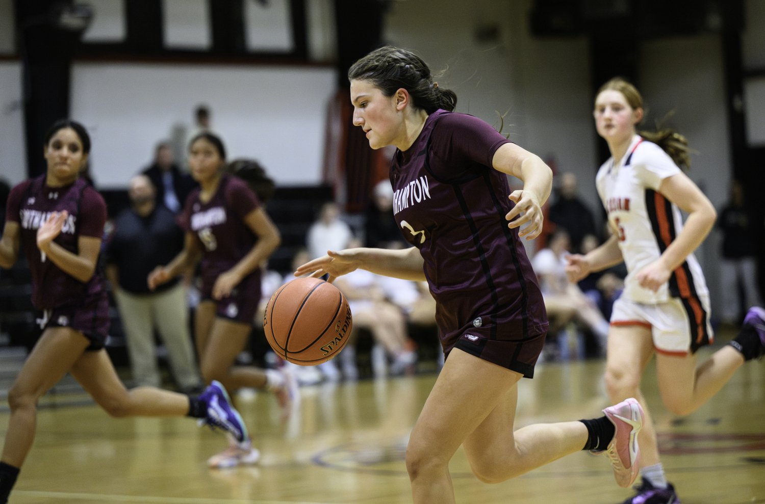
[[[504,144],[496,150],[492,159],[495,170],[523,180],[523,189],[513,191],[510,200],[516,203],[505,218],[512,221],[510,228],[529,223],[519,236],[535,239],[542,232],[542,205],[552,190],[552,170],[536,154],[516,144]],[[523,215],[513,220],[521,212]]]

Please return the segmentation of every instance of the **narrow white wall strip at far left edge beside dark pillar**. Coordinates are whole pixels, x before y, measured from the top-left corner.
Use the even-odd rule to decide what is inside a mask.
[[[11,185],[27,177],[23,112],[21,62],[0,61],[0,178]]]

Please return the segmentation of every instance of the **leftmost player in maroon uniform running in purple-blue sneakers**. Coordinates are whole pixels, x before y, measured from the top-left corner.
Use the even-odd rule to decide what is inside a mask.
[[[0,459],[0,502],[8,501],[34,441],[37,399],[70,372],[113,417],[196,417],[241,441],[247,430],[213,382],[199,398],[152,387],[125,390],[104,350],[109,302],[96,269],[106,204],[79,178],[90,137],[77,122],[55,123],[45,135],[47,173],[18,184],[8,197],[0,266],[11,268],[19,245],[32,274],[32,304],[42,336],[8,392],[11,418]]]

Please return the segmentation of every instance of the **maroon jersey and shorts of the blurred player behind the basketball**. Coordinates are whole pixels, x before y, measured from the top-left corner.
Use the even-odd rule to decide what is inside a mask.
[[[257,236],[244,219],[260,202],[244,180],[229,175],[220,178],[218,189],[207,203],[200,201],[199,195],[199,188],[189,194],[179,223],[200,241],[202,298],[211,299],[216,278],[233,268],[256,244]],[[260,269],[247,275],[230,298],[219,302],[218,314],[251,323],[260,301]]]

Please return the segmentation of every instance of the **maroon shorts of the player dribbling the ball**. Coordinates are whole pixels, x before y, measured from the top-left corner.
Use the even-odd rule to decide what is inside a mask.
[[[502,331],[497,331],[498,337],[490,339],[489,335],[480,330],[468,330],[457,339],[454,348],[458,348],[480,359],[487,360],[497,366],[521,373],[525,378],[534,377],[534,366],[542,346],[545,346],[547,333],[535,334],[527,338],[499,339]]]

